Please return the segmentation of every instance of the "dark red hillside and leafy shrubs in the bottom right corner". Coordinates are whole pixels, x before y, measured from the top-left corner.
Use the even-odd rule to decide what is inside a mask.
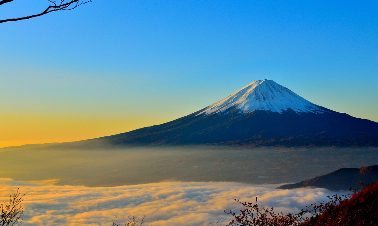
[[[298,214],[273,212],[273,208],[260,208],[257,203],[237,202],[245,206],[234,216],[229,226],[376,226],[378,225],[378,181],[364,186],[361,191],[337,194],[327,203],[310,204]],[[310,216],[309,216],[310,215]],[[307,217],[305,217],[307,216]]]

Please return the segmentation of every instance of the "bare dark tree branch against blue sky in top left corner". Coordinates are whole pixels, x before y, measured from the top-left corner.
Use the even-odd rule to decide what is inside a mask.
[[[0,6],[5,4],[5,3],[13,2],[13,1],[14,0],[1,0]],[[74,8],[80,6],[80,5],[84,5],[85,3],[92,2],[92,0],[87,0],[87,1],[83,1],[83,0],[59,0],[58,3],[57,3],[57,0],[48,0],[48,1],[50,3],[52,3],[52,5],[48,6],[45,9],[45,11],[43,11],[39,14],[29,15],[29,16],[26,16],[26,17],[0,20],[0,23],[9,22],[9,21],[27,20],[27,19],[30,19],[30,18],[33,18],[33,17],[39,17],[39,16],[42,16],[42,15],[48,14],[50,12],[59,11],[59,10],[68,11],[68,10],[74,9]]]

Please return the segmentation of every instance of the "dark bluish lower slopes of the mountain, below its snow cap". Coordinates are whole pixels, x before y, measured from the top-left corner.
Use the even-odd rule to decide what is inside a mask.
[[[112,145],[378,146],[378,123],[329,109],[324,113],[195,112],[161,125],[98,138]]]

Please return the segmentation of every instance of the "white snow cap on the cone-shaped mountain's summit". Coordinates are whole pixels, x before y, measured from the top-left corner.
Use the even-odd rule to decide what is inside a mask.
[[[290,89],[275,83],[273,80],[264,79],[252,82],[229,97],[208,106],[197,115],[221,113],[230,108],[236,108],[241,113],[257,110],[282,113],[289,108],[297,114],[301,112],[324,112],[318,105],[305,100]]]

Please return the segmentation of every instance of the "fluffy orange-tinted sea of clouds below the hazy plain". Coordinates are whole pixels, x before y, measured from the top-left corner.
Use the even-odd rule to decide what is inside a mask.
[[[0,200],[20,189],[26,194],[24,226],[101,225],[109,226],[135,214],[146,215],[143,225],[209,226],[218,218],[222,225],[232,220],[225,210],[239,212],[234,201],[274,207],[275,212],[297,213],[306,205],[327,200],[332,191],[322,188],[275,189],[277,184],[234,182],[160,182],[117,187],[58,186],[51,181],[14,181],[0,178]],[[116,218],[115,218],[116,217]]]

